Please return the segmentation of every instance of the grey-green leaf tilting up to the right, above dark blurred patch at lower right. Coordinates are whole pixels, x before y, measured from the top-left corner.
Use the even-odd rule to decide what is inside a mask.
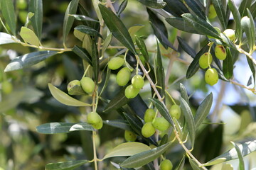
[[[210,112],[210,108],[213,104],[213,94],[210,93],[206,98],[202,101],[200,106],[198,107],[195,115],[195,127],[196,129],[203,123],[203,120],[206,120],[207,115]]]

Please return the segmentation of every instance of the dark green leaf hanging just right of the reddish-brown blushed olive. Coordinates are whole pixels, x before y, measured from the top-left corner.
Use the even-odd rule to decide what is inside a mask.
[[[227,51],[227,57],[223,61],[223,74],[226,79],[231,79],[233,77],[234,62],[233,62],[233,57],[229,47],[226,48],[226,51]]]

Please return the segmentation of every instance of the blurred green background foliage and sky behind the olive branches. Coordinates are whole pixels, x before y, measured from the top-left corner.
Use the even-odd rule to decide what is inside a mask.
[[[14,1],[16,7],[17,28],[21,28],[26,22],[28,1]],[[65,9],[69,1],[64,0],[44,0],[43,1],[43,45],[48,47],[62,47],[62,26]],[[91,1],[80,1],[86,7],[87,12],[92,18],[96,17]],[[114,5],[118,8],[121,1]],[[239,4],[239,1],[238,1]],[[146,45],[149,50],[156,49],[156,38],[152,34],[151,26],[148,20],[146,8],[138,1],[129,0],[127,8],[122,13],[122,21],[127,28],[141,24],[144,27],[139,30],[139,35],[144,35]],[[218,22],[213,19],[213,26],[218,26]],[[78,26],[79,21],[75,21],[74,26]],[[174,42],[177,30],[168,24],[169,40]],[[230,22],[230,28],[233,23]],[[3,32],[2,26],[0,26]],[[200,49],[200,44],[205,38],[200,35],[191,35],[182,33],[180,35],[196,51]],[[117,41],[112,41],[113,45],[118,45]],[[80,41],[70,32],[68,36],[68,47],[79,45]],[[18,44],[9,44],[0,46],[0,81],[9,81],[13,87],[10,93],[4,93],[1,86],[0,94],[0,169],[23,170],[23,169],[44,169],[49,162],[61,162],[70,159],[92,159],[92,142],[90,132],[70,132],[59,135],[41,135],[36,132],[36,126],[50,122],[80,122],[85,120],[87,108],[75,108],[65,106],[51,96],[48,90],[48,83],[58,86],[59,89],[67,92],[66,86],[73,79],[80,79],[83,74],[83,67],[80,57],[73,52],[65,52],[61,55],[50,57],[45,62],[34,65],[26,69],[4,73],[4,68],[11,59],[19,55],[33,52],[32,48],[23,47]],[[181,51],[180,57],[183,60],[191,62],[191,57]],[[165,52],[161,47],[162,53]],[[112,56],[117,50],[107,50],[105,55]],[[151,53],[151,57],[154,57]],[[235,65],[235,77],[243,84],[247,84],[250,78],[250,70],[245,69],[245,57],[241,57]],[[163,57],[163,63],[167,64],[169,58]],[[165,68],[167,65],[164,66]],[[207,162],[213,157],[218,156],[225,150],[230,149],[230,140],[235,142],[245,142],[256,137],[256,114],[255,114],[255,95],[241,89],[238,86],[219,81],[217,85],[211,87],[206,85],[203,80],[203,72],[197,72],[191,79],[186,80],[187,64],[174,62],[171,77],[169,79],[168,91],[178,101],[179,83],[186,85],[188,94],[193,95],[190,98],[191,106],[196,111],[208,91],[213,91],[214,103],[211,110],[211,120],[222,120],[224,125],[202,125],[197,133],[196,146],[193,154],[201,162]],[[1,84],[2,85],[2,84]],[[114,75],[110,77],[110,83],[103,96],[112,98],[118,91],[119,86],[115,83]],[[146,84],[141,92],[142,98],[151,95],[150,86]],[[84,98],[86,100],[86,98]],[[171,101],[166,101],[167,106]],[[99,104],[99,112],[103,120],[117,119],[119,114],[115,111],[102,113],[105,103]],[[117,130],[105,125],[100,130],[98,138],[99,157],[102,157],[111,148],[124,142],[124,130]],[[167,154],[174,164],[178,164],[183,157],[183,149],[179,145]],[[175,157],[173,156],[175,155]],[[247,167],[256,167],[255,153],[247,158]],[[118,160],[119,159],[119,160]],[[121,162],[122,158],[113,158],[114,162]],[[237,162],[233,162],[238,166]],[[110,163],[101,162],[102,169],[114,169]],[[99,167],[99,169],[100,169]],[[218,166],[213,169],[218,169]],[[90,169],[85,165],[78,169]],[[187,166],[186,169],[191,169]]]

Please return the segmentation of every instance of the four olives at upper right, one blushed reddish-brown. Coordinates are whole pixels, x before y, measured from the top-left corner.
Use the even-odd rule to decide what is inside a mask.
[[[219,28],[215,28],[215,30],[220,33]],[[226,29],[223,31],[223,34],[229,38],[231,41],[235,40],[235,30]],[[210,38],[210,37],[209,37]],[[209,50],[210,51],[210,50]],[[227,52],[225,50],[225,47],[223,45],[215,45],[215,56],[219,60],[225,60],[227,57]],[[210,86],[213,86],[218,82],[218,72],[215,68],[211,68],[210,64],[213,62],[213,56],[210,54],[210,52],[205,52],[201,57],[199,58],[199,66],[202,69],[207,69],[205,74],[205,81],[207,84],[210,84]]]

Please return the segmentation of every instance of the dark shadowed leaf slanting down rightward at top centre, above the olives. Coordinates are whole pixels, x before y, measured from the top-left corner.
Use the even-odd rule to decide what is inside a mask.
[[[151,26],[154,30],[154,35],[156,35],[156,38],[166,49],[171,47],[172,49],[176,50],[174,45],[172,45],[168,40],[168,30],[164,25],[164,22],[161,21],[159,17],[156,16],[156,14],[149,8],[146,8],[146,11],[149,13],[149,21],[151,22]]]

